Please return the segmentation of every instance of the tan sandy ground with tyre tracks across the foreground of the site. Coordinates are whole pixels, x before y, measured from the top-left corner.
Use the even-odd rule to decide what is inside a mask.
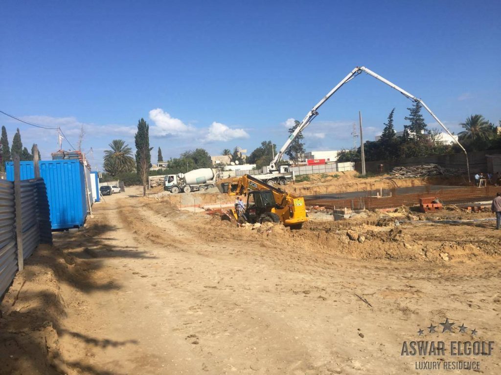
[[[501,235],[440,220],[489,213],[250,230],[138,192],[106,197],[28,259],[2,303],[0,372],[463,373],[416,370],[457,357],[402,356],[402,344],[476,328],[494,352],[460,359],[501,373]],[[428,333],[446,318],[454,333]]]

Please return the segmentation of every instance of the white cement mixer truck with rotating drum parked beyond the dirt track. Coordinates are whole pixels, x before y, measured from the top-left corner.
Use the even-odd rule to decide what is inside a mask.
[[[164,177],[163,189],[173,194],[180,191],[205,190],[215,186],[217,173],[217,169],[200,168],[186,173],[167,174]]]

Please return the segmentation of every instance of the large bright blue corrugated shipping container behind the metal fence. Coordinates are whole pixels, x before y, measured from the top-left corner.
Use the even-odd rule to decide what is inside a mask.
[[[79,160],[41,160],[40,176],[47,187],[52,229],[82,226],[87,217],[84,166]],[[33,161],[21,161],[21,179],[35,177]],[[6,162],[7,179],[14,181],[14,163]]]

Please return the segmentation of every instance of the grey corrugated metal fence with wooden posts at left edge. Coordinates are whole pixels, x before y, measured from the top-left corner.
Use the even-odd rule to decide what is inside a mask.
[[[0,296],[18,271],[16,223],[21,222],[23,259],[40,243],[52,243],[49,201],[42,178],[20,181],[20,203],[17,216],[14,182],[0,179]]]

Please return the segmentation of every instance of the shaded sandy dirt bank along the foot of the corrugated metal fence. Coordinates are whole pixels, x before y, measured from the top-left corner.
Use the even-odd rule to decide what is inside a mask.
[[[47,263],[48,259],[52,261]],[[57,332],[59,321],[66,316],[58,273],[67,266],[57,249],[41,245],[25,261],[25,270],[16,275],[2,301],[2,373],[69,372],[61,358]]]

